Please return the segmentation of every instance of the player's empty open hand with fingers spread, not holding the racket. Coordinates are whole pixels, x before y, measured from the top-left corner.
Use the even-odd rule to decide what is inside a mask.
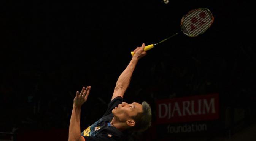
[[[74,104],[78,107],[81,107],[84,102],[87,101],[87,98],[90,94],[91,86],[87,86],[86,88],[83,87],[81,90],[81,93],[79,94],[79,91],[76,91],[76,97],[74,98]]]

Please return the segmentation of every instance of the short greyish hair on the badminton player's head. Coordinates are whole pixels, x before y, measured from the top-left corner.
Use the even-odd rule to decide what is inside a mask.
[[[132,117],[135,121],[135,126],[131,130],[145,131],[151,126],[151,107],[148,102],[142,102],[142,112]]]

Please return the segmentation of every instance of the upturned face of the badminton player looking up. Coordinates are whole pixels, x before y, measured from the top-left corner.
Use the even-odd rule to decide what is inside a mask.
[[[132,116],[140,112],[142,112],[142,105],[137,102],[131,104],[122,102],[122,104],[118,104],[118,106],[112,110],[113,115],[122,122],[131,119]]]

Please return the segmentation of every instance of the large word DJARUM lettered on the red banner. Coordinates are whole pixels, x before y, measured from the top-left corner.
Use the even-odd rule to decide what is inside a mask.
[[[201,102],[203,101],[203,102]],[[195,111],[195,101],[183,101],[180,107],[178,102],[174,102],[172,108],[171,102],[161,103],[158,105],[158,117],[170,119],[178,114],[178,116],[186,115],[205,115],[208,113],[216,113],[215,111],[215,98],[211,98],[210,102],[207,99],[199,99],[196,101],[197,111]],[[202,107],[202,108],[201,108]],[[203,110],[202,110],[203,109]],[[168,115],[168,116],[167,116]]]

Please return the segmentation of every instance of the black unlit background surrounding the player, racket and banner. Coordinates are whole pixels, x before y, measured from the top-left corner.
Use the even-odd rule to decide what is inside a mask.
[[[56,138],[67,140],[75,92],[91,85],[81,115],[84,130],[106,110],[116,80],[132,58],[130,51],[176,33],[183,15],[201,7],[210,9],[213,25],[198,37],[179,34],[149,50],[138,62],[124,100],[148,101],[154,123],[157,99],[219,93],[217,128],[223,132],[216,136],[235,135],[235,108],[245,111],[241,130],[255,121],[253,2],[1,3],[0,132],[15,131],[18,137],[56,132]],[[229,126],[224,126],[226,108],[233,109]],[[143,140],[148,132],[131,140]]]

